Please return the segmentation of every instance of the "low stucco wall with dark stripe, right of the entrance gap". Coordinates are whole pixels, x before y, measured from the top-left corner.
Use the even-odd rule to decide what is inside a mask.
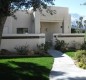
[[[53,44],[55,45],[56,39],[64,40],[69,46],[72,45],[81,45],[84,42],[85,34],[53,34]]]

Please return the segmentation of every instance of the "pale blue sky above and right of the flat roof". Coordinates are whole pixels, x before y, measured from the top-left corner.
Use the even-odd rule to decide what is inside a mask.
[[[78,13],[86,16],[86,6],[80,5],[86,0],[55,0],[55,6],[68,7],[69,13]]]

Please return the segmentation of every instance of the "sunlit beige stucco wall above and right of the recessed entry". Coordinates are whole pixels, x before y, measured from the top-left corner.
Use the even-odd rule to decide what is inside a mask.
[[[61,24],[63,23],[62,32],[71,33],[71,16],[69,15],[69,9],[67,7],[50,7],[50,10],[55,11],[55,14],[53,15],[47,13],[46,10],[47,9],[43,9],[42,14],[40,14],[40,22],[58,22]],[[59,32],[60,31],[58,31],[57,33]]]

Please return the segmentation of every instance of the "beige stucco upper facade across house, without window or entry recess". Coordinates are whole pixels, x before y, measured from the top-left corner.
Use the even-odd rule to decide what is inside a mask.
[[[70,17],[69,10],[66,7],[50,7],[51,10],[55,10],[56,14],[49,14],[45,9],[42,10],[42,14],[37,10],[33,11],[17,11],[14,15],[17,19],[13,17],[8,17],[4,25],[3,34],[16,34],[17,28],[28,28],[28,33],[40,33],[40,22],[54,22],[62,23],[64,21],[64,33],[70,33]],[[46,25],[46,24],[45,24]],[[60,27],[60,26],[59,26]],[[60,30],[59,30],[60,31]],[[58,33],[59,33],[58,31]]]

